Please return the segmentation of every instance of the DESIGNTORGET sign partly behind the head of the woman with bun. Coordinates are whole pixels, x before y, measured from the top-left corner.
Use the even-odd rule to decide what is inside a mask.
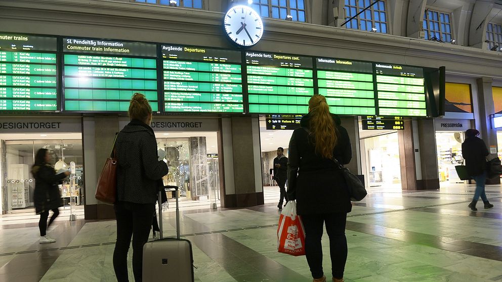
[[[119,121],[120,129],[129,123],[129,119]],[[218,131],[220,123],[217,118],[155,118],[151,127],[154,131]]]

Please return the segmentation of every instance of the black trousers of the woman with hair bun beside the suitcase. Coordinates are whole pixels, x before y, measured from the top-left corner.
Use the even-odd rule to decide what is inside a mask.
[[[136,282],[143,275],[143,245],[148,241],[155,214],[155,204],[117,202],[114,206],[117,218],[117,242],[113,252],[113,268],[119,282],[129,281],[127,253],[133,238],[133,273]]]

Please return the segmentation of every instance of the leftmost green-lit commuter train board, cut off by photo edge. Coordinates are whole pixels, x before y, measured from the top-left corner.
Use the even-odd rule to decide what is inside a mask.
[[[0,112],[58,111],[56,37],[0,33]]]

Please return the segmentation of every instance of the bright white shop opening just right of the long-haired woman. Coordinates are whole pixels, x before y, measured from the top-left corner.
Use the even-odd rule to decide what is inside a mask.
[[[362,130],[363,134],[369,134]],[[374,132],[374,131],[373,131]],[[401,165],[396,131],[360,139],[362,171],[368,187],[401,190]]]

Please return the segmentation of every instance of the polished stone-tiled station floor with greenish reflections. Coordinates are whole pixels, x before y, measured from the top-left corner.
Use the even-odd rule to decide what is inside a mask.
[[[465,184],[439,191],[369,189],[348,215],[345,281],[502,280],[502,187],[486,187],[492,209],[482,202],[477,212],[468,209],[473,193],[474,185]],[[182,208],[181,233],[193,244],[196,281],[312,281],[305,257],[277,253],[277,187],[266,188],[265,198],[263,206],[242,209]],[[57,242],[42,245],[36,216],[2,217],[0,281],[116,281],[115,221],[78,215],[70,222],[67,214],[49,230]],[[174,235],[174,209],[163,216],[167,236]],[[323,248],[330,279],[326,234]]]

